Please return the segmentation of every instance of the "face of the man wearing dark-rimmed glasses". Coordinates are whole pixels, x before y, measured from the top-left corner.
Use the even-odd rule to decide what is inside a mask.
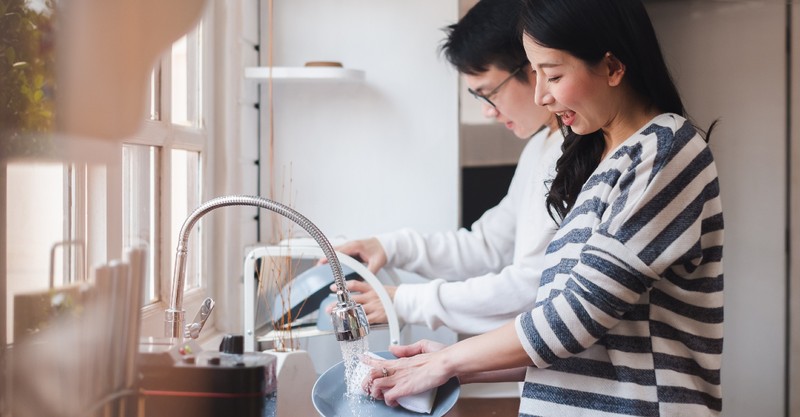
[[[507,129],[514,132],[520,139],[531,137],[539,128],[547,123],[550,112],[544,107],[536,105],[534,93],[536,79],[531,75],[530,66],[523,67],[519,74],[528,78],[528,83],[520,81],[517,77],[508,77],[509,71],[490,66],[489,70],[477,74],[464,74],[464,81],[474,92],[485,96],[494,106],[481,100],[483,114],[504,124]],[[503,81],[508,81],[503,83]],[[500,88],[497,88],[500,86]]]

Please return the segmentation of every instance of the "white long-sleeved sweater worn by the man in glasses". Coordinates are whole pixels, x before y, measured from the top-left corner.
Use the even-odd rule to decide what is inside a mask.
[[[508,194],[471,231],[403,229],[378,236],[388,266],[433,279],[397,288],[394,305],[402,321],[478,334],[533,308],[544,251],[557,229],[544,199],[562,140],[559,131],[535,134]]]

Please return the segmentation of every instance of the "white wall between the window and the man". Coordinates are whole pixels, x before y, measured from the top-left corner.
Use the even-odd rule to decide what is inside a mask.
[[[275,177],[284,190],[276,199],[330,237],[455,227],[458,80],[438,46],[456,19],[455,0],[276,2],[274,65],[338,61],[366,71],[363,83],[274,84]]]

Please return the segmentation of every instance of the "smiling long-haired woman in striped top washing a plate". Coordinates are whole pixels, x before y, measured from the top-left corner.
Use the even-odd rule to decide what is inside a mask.
[[[524,376],[520,415],[718,415],[717,172],[643,5],[525,0],[521,23],[535,100],[566,130],[536,307],[446,348],[366,359],[365,389],[394,406],[453,376]]]

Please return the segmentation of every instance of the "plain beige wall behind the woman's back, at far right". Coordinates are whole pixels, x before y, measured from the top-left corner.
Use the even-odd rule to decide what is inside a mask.
[[[784,415],[785,5],[649,2],[684,104],[711,147],[725,216],[723,414]]]

